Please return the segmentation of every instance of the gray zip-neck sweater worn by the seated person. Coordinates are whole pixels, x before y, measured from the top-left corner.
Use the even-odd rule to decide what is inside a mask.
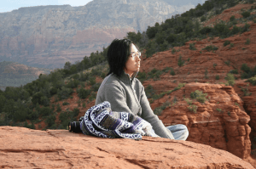
[[[121,76],[110,74],[105,77],[96,96],[96,104],[108,101],[113,111],[125,111],[148,121],[161,138],[171,138],[170,132],[150,108],[142,83],[125,72]]]

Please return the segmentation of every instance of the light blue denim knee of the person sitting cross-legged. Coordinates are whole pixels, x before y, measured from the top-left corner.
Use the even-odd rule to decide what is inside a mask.
[[[177,124],[166,128],[172,132],[173,138],[176,140],[186,140],[189,136],[189,130],[183,124]]]

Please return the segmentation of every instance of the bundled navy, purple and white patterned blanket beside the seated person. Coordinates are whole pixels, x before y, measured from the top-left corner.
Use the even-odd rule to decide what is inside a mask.
[[[99,111],[102,112],[97,115]],[[129,119],[133,119],[133,121],[129,121]],[[108,101],[87,110],[83,121],[80,122],[80,128],[84,134],[100,138],[141,140],[142,136],[159,137],[154,133],[148,121],[131,113],[112,112]]]

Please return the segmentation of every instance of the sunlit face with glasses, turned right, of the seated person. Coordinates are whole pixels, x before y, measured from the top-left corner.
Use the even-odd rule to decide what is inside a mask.
[[[137,55],[135,57],[132,57],[132,54],[134,54],[134,53]],[[129,56],[129,59],[125,63],[125,73],[132,76],[133,73],[139,71],[140,70],[140,61],[141,61],[141,59],[139,58],[138,50],[134,46],[134,44],[131,43],[131,54]]]

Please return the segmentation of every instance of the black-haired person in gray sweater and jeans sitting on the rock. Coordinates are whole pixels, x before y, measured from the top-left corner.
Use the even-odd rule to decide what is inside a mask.
[[[96,96],[96,104],[108,101],[111,109],[129,112],[148,121],[161,138],[186,140],[188,128],[182,124],[165,127],[150,108],[142,83],[136,78],[141,53],[128,39],[114,39],[108,48],[109,72]]]

